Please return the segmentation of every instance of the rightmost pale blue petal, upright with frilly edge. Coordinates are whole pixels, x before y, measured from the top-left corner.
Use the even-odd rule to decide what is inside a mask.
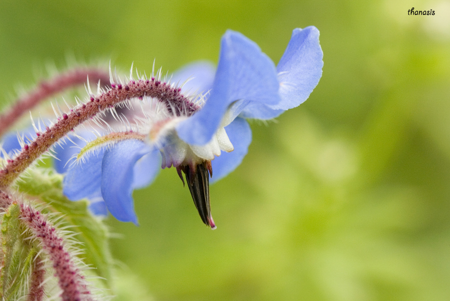
[[[287,110],[305,101],[322,76],[322,58],[317,28],[294,29],[276,67],[282,101],[269,107]]]

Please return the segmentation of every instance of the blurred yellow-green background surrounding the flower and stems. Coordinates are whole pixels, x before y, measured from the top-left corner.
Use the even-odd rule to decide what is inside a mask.
[[[0,99],[73,59],[216,62],[227,28],[276,63],[315,25],[323,76],[251,123],[248,155],[210,189],[216,231],[173,169],[134,192],[139,227],[108,219],[117,300],[450,300],[449,15],[448,0],[1,0]]]

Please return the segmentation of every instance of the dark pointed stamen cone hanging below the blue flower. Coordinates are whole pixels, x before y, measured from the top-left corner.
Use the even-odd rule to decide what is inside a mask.
[[[189,165],[181,166],[181,170],[186,177],[187,187],[189,187],[190,195],[201,220],[206,226],[215,229],[209,202],[208,172],[210,167],[208,167],[208,163],[210,166],[209,161],[198,164],[195,167]]]

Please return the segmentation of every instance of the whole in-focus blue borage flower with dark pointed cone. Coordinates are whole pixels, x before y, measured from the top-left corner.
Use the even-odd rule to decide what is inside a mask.
[[[251,142],[245,118],[271,119],[306,100],[322,72],[318,36],[313,26],[294,29],[275,67],[253,41],[228,30],[215,75],[209,64],[197,63],[173,75],[172,83],[194,76],[181,88],[151,78],[166,92],[143,97],[136,126],[82,148],[65,176],[65,195],[100,200],[119,221],[137,223],[132,191],[148,185],[162,161],[162,168],[175,167],[183,183],[184,173],[201,220],[214,229],[208,178],[217,181],[241,163]],[[193,89],[207,92],[183,96]]]

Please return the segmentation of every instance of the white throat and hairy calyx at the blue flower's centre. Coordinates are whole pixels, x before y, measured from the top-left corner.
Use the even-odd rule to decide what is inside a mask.
[[[132,120],[136,124],[128,130],[125,129],[126,126],[122,119],[120,126],[109,125],[112,132],[88,142],[81,149],[76,161],[83,159],[85,155],[89,155],[100,147],[109,147],[127,139],[139,139],[158,149],[162,156],[162,168],[185,165],[194,167],[202,162],[213,160],[214,157],[220,155],[221,151],[231,152],[234,149],[224,129],[235,117],[231,106],[224,114],[220,126],[212,135],[211,140],[204,145],[187,144],[178,137],[176,126],[189,118],[188,116],[176,116],[169,113],[163,105],[148,98],[144,98],[140,112],[135,112]],[[118,130],[119,128],[120,130]]]

